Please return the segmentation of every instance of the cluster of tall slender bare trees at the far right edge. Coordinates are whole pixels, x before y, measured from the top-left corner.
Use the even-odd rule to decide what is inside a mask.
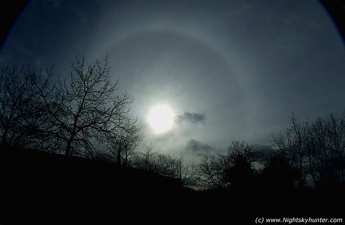
[[[273,137],[276,153],[298,176],[295,188],[344,184],[345,116],[330,113],[326,119],[301,122],[292,114],[285,136]]]

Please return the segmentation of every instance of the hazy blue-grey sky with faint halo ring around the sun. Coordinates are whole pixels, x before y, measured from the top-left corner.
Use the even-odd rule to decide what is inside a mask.
[[[345,109],[344,40],[318,1],[34,0],[0,65],[55,63],[64,77],[69,59],[106,52],[145,142],[196,159],[232,140],[269,146],[293,111],[313,120]],[[161,104],[175,123],[156,133],[147,119]]]

